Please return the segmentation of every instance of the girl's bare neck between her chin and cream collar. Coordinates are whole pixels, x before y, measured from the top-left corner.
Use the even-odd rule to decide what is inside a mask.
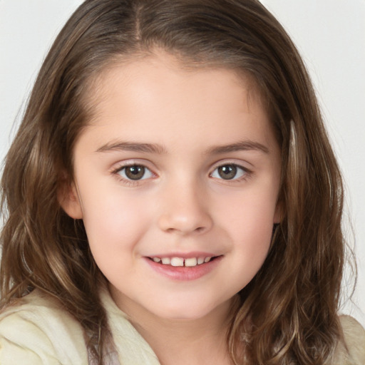
[[[135,329],[148,342],[161,365],[231,364],[227,351],[232,301],[198,319],[165,319],[123,303]]]

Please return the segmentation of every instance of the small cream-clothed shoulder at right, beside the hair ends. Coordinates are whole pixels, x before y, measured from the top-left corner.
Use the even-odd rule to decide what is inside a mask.
[[[350,316],[340,316],[343,341],[339,342],[334,365],[365,364],[365,329]]]

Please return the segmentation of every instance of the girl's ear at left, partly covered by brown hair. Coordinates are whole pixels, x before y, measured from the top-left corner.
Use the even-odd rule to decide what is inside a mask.
[[[58,187],[58,202],[62,209],[74,220],[83,219],[83,210],[81,201],[75,183],[63,180],[61,186]]]

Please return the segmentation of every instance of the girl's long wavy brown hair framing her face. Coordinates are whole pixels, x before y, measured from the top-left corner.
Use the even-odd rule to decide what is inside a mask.
[[[282,151],[282,222],[240,292],[227,345],[235,364],[324,364],[341,339],[343,187],[308,73],[257,0],[86,0],[38,74],[1,180],[1,306],[38,288],[62,302],[105,362],[110,338],[103,275],[82,221],[61,209],[73,146],[93,113],[93,81],[111,63],[156,49],[194,67],[249,74]]]

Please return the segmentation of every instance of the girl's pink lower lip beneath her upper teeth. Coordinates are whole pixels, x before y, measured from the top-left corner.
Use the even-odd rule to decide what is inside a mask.
[[[213,269],[215,269],[215,267],[217,267],[221,259],[222,256],[219,256],[210,262],[205,262],[205,264],[200,264],[193,267],[175,267],[171,265],[158,264],[157,262],[145,257],[146,262],[155,272],[158,272],[158,274],[162,274],[169,279],[178,281],[196,280],[209,274]]]

